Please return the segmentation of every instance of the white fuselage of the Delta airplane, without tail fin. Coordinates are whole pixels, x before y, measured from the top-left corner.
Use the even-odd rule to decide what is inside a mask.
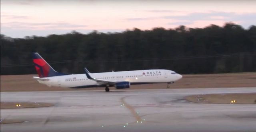
[[[123,71],[123,72],[102,72],[102,73],[90,73],[92,78],[114,81],[114,82],[130,82],[132,84],[144,84],[144,83],[164,83],[175,82],[182,78],[180,74],[177,74],[171,70],[136,70],[136,71]],[[86,74],[71,74],[64,76],[54,76],[46,78],[48,80],[38,80],[39,83],[46,84],[48,86],[57,87],[98,87],[100,83],[90,80],[86,77]]]

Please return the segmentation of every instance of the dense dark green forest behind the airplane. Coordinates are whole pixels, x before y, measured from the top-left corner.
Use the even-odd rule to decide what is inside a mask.
[[[168,69],[180,74],[256,71],[256,26],[126,30],[88,34],[72,31],[47,37],[1,34],[1,75],[36,74],[32,52],[66,74]]]

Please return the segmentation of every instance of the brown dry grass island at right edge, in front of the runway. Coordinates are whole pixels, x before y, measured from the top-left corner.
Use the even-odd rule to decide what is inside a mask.
[[[187,101],[214,104],[256,104],[256,93],[227,93],[186,96]]]

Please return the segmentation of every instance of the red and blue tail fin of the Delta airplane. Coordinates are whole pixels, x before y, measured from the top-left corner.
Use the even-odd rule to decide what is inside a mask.
[[[66,75],[56,72],[37,52],[32,53],[32,57],[36,72],[40,78]]]

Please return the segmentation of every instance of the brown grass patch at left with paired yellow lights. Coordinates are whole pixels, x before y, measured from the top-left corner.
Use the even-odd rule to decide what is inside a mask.
[[[20,109],[20,108],[38,108],[50,107],[52,103],[39,103],[39,102],[1,102],[0,109]]]

